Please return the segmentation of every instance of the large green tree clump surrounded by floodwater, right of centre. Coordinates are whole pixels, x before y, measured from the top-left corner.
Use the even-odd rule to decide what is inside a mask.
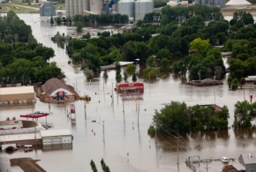
[[[188,107],[184,102],[171,101],[160,111],[155,110],[153,123],[148,134],[175,135],[190,131],[217,131],[228,129],[229,109],[224,106],[195,105]]]

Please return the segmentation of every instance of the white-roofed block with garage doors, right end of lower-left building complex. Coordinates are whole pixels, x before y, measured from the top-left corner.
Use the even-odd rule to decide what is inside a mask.
[[[68,129],[41,131],[42,146],[72,144],[72,132]]]

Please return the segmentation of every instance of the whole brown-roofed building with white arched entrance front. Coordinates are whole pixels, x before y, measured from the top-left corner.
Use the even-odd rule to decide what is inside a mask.
[[[41,86],[41,99],[46,102],[75,101],[78,97],[72,86],[60,79],[49,79]]]

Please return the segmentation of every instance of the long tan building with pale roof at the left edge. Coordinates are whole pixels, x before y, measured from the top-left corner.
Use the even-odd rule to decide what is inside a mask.
[[[0,105],[34,103],[34,86],[0,88]]]

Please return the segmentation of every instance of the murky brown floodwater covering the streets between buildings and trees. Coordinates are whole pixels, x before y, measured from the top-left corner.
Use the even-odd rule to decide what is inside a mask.
[[[72,148],[53,150],[34,150],[24,153],[19,150],[12,154],[0,154],[10,158],[30,157],[38,159],[38,164],[49,172],[92,171],[90,161],[95,162],[101,171],[102,158],[113,172],[165,172],[192,171],[186,167],[189,156],[199,155],[200,159],[220,159],[222,156],[234,158],[230,164],[243,168],[237,161],[240,153],[252,152],[255,146],[255,131],[240,130],[192,133],[177,140],[171,137],[150,138],[147,129],[152,123],[155,109],[161,109],[170,101],[184,101],[187,105],[211,104],[226,105],[230,109],[229,125],[233,123],[234,104],[237,101],[249,101],[249,94],[256,95],[256,90],[229,91],[225,79],[223,86],[193,87],[181,84],[181,79],[170,75],[154,83],[145,83],[145,93],[137,103],[132,99],[124,100],[117,96],[115,71],[109,72],[109,79],[103,82],[102,73],[99,81],[88,82],[82,71],[77,71],[68,64],[69,57],[50,41],[57,31],[72,34],[75,27],[48,26],[41,24],[38,14],[19,14],[33,29],[34,37],[47,47],[55,50],[55,61],[66,75],[66,83],[74,86],[81,95],[88,94],[92,101],[76,101],[75,120],[67,117],[70,103],[65,106],[37,101],[34,108],[1,109],[0,120],[32,111],[50,111],[47,122],[54,128],[68,128],[74,136]],[[132,77],[129,78],[132,80]],[[143,79],[139,79],[143,81]],[[110,94],[113,93],[113,100]],[[85,108],[86,105],[86,108]],[[136,106],[137,105],[137,106]],[[124,111],[124,113],[123,113]],[[139,117],[138,117],[139,114]],[[96,121],[93,123],[92,121]],[[39,120],[45,123],[45,119]],[[178,162],[178,163],[177,163]],[[200,164],[200,171],[219,171],[221,161]]]

